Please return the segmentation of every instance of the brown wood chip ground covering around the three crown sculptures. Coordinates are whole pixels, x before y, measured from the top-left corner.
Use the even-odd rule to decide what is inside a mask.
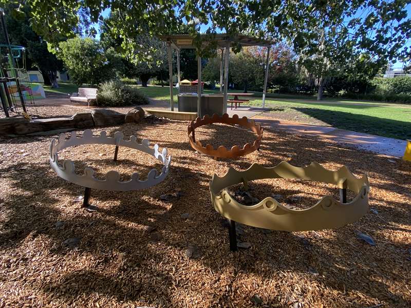
[[[83,189],[50,169],[51,137],[0,139],[0,307],[410,306],[409,162],[273,130],[264,132],[259,152],[216,161],[190,147],[187,125],[159,120],[105,128],[110,135],[121,130],[150,139],[173,159],[169,176],[151,189],[92,190],[94,213],[73,202]],[[197,129],[196,138],[231,146],[255,137],[215,125]],[[132,149],[120,148],[117,163],[113,155],[114,147],[90,145],[69,148],[62,158],[79,170],[92,166],[100,176],[118,170],[124,179],[160,168]],[[367,174],[372,211],[359,222],[318,232],[244,226],[240,240],[251,247],[231,253],[228,230],[211,205],[211,177],[230,166],[282,160],[330,169],[345,164],[357,176]],[[300,196],[303,206],[323,194],[338,198],[335,187],[308,181],[261,180],[250,187],[261,198]]]

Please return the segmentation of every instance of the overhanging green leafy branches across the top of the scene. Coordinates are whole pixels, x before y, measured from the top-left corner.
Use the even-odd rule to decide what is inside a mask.
[[[10,0],[0,0],[7,4]],[[187,30],[202,57],[215,54],[213,40],[217,32],[250,34],[259,38],[285,40],[300,56],[299,61],[319,78],[319,94],[333,65],[345,65],[351,59],[362,59],[369,54],[375,63],[404,59],[409,63],[411,19],[407,13],[407,0],[11,0],[30,7],[35,31],[51,45],[57,36],[73,36],[74,29],[84,20],[86,33],[93,34],[90,26],[102,20],[102,11],[121,12],[121,22],[111,25],[115,37],[123,37],[121,45],[129,57],[151,61],[153,49],[144,50],[134,38],[142,33],[150,36],[178,33],[185,20]],[[20,8],[20,7],[19,7]],[[14,13],[21,14],[17,8]],[[81,12],[86,17],[82,18]],[[64,21],[64,22],[62,22]],[[205,29],[204,29],[205,27]],[[199,35],[205,30],[206,35]],[[238,52],[238,44],[233,51]],[[315,60],[315,61],[313,61]],[[315,63],[313,63],[315,62]],[[321,95],[319,95],[319,98]]]

